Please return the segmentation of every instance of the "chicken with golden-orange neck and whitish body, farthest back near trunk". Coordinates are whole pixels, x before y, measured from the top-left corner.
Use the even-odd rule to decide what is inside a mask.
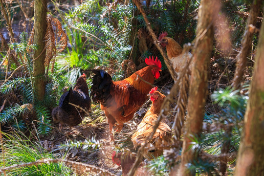
[[[166,37],[167,35],[167,32],[162,32],[159,35],[158,41],[160,42],[161,46],[166,47],[168,58],[171,60],[173,68],[178,74],[185,65],[186,59],[188,62],[190,62],[193,55],[190,52],[182,53],[182,47],[174,39]],[[189,75],[191,74],[193,67],[194,62],[191,61],[189,64],[189,70],[187,72]]]

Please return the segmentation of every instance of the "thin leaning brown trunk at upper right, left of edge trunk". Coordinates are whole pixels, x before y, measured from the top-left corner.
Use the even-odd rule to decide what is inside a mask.
[[[242,38],[242,47],[241,47],[241,51],[240,53],[237,55],[236,60],[237,60],[237,67],[236,67],[236,71],[235,71],[235,75],[232,81],[232,86],[235,89],[239,89],[240,88],[240,84],[242,81],[242,77],[243,77],[243,73],[244,73],[244,69],[246,66],[246,56],[248,55],[250,46],[251,46],[251,42],[252,42],[252,37],[254,34],[254,31],[250,30],[250,24],[255,25],[256,20],[257,20],[257,16],[260,12],[260,8],[262,4],[262,0],[254,0],[252,5],[251,5],[251,9],[249,12],[249,17],[246,21],[246,28],[243,34],[243,38]]]

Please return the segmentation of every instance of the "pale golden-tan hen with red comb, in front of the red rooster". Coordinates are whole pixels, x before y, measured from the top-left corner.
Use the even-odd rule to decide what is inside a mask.
[[[132,135],[134,148],[144,145],[148,140],[149,136],[153,132],[153,127],[160,112],[161,105],[166,97],[157,91],[157,87],[152,88],[148,96],[150,96],[152,106],[146,112],[142,121],[138,125],[137,131]],[[153,138],[150,141],[150,145],[147,145],[147,156],[152,158],[153,156],[157,157],[162,154],[162,148],[171,144],[171,138],[172,133],[170,121],[167,118],[162,118],[156,132],[153,135]]]

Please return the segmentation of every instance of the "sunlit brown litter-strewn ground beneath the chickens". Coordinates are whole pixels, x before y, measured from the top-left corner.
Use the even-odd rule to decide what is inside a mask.
[[[147,110],[146,106],[150,105],[149,101],[147,103],[145,104],[145,107],[138,111],[139,114],[140,112],[142,113],[140,116],[137,113],[137,115],[135,115],[132,120],[125,123],[124,128],[120,133],[115,133],[114,143],[110,142],[107,117],[104,115],[104,113],[101,113],[102,115],[96,115],[92,112],[90,112],[88,116],[85,117],[81,124],[72,127],[71,130],[69,127],[64,126],[63,130],[59,132],[59,125],[54,124],[52,132],[48,136],[42,137],[40,142],[44,149],[52,152],[54,155],[64,156],[65,159],[71,161],[95,165],[97,167],[106,169],[117,176],[121,176],[121,167],[112,163],[112,152],[115,148],[126,148],[132,152],[136,152],[133,149],[131,136],[133,131],[136,130],[137,125],[142,120]],[[65,146],[70,141],[85,142],[86,139],[89,139],[92,136],[94,136],[94,138],[101,144],[101,147],[98,149],[67,149]]]

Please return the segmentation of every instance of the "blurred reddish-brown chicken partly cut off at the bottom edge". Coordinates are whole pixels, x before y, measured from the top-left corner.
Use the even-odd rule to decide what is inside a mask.
[[[117,166],[121,166],[122,168],[122,176],[128,176],[129,171],[131,170],[133,163],[136,160],[136,154],[131,152],[120,152],[116,153],[115,151],[112,153],[112,161]],[[141,162],[140,166],[134,173],[134,176],[151,176],[152,173],[144,167],[146,163]]]

